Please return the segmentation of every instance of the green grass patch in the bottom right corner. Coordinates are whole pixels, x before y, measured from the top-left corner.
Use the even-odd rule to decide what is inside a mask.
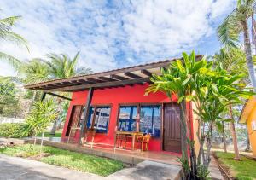
[[[251,180],[256,179],[256,161],[250,160],[244,156],[241,156],[241,160],[234,160],[234,154],[216,152],[224,165],[226,165],[231,172],[231,175],[239,180]]]

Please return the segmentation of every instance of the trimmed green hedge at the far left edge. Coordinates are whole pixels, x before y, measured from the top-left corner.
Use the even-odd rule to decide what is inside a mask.
[[[23,135],[23,129],[23,123],[3,123],[0,124],[0,136],[17,138]]]

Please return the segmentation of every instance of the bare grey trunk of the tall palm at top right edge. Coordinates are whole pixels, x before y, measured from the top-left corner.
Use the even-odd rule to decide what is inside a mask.
[[[253,66],[252,49],[251,49],[249,32],[248,32],[247,20],[242,21],[241,25],[243,28],[244,48],[245,48],[245,53],[246,53],[249,78],[251,80],[253,88],[256,88],[256,76],[255,76],[255,70],[254,70],[254,66]],[[254,89],[254,91],[255,91],[255,89]]]

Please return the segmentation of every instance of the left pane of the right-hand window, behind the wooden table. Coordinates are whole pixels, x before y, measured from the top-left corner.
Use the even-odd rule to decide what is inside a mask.
[[[119,131],[136,131],[137,106],[120,106]]]

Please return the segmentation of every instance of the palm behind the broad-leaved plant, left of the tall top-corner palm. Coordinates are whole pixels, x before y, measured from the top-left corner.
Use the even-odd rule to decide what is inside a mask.
[[[247,73],[246,67],[246,57],[241,49],[230,48],[230,49],[220,49],[218,53],[214,55],[214,60],[221,63],[222,67],[230,73],[233,74],[242,74]],[[243,84],[247,84],[247,78],[241,78],[241,82]],[[232,105],[230,104],[228,107],[228,113],[230,115],[230,119],[233,121],[230,122],[230,132],[233,139],[234,151],[235,151],[235,159],[239,160],[239,150],[237,146],[237,137],[236,137],[236,128],[234,124],[234,116]],[[225,149],[226,151],[226,149]]]

